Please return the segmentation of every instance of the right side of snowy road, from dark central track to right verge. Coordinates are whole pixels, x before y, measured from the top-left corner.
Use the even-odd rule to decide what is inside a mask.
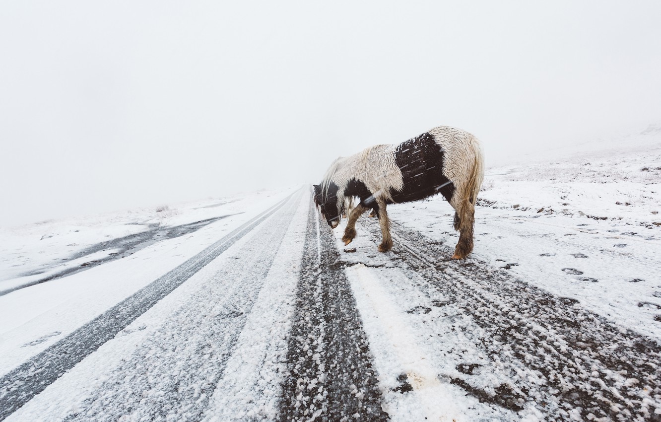
[[[377,223],[364,227],[365,244],[377,244]],[[661,419],[656,342],[488,263],[450,261],[453,245],[401,224],[393,232],[393,259],[344,255],[365,325],[373,327],[377,368],[379,360],[393,367],[385,378],[390,391],[398,373],[413,391],[421,384],[421,397],[433,384],[439,392],[429,411],[445,400],[444,414],[457,420]],[[466,395],[475,400],[457,406]],[[420,409],[389,396],[391,416],[406,408],[400,420],[408,407]]]

